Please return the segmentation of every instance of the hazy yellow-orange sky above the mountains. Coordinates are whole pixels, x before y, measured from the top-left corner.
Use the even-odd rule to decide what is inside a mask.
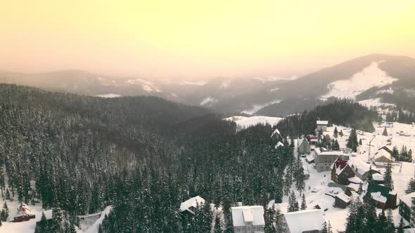
[[[167,78],[415,57],[415,1],[2,0],[0,69]]]

